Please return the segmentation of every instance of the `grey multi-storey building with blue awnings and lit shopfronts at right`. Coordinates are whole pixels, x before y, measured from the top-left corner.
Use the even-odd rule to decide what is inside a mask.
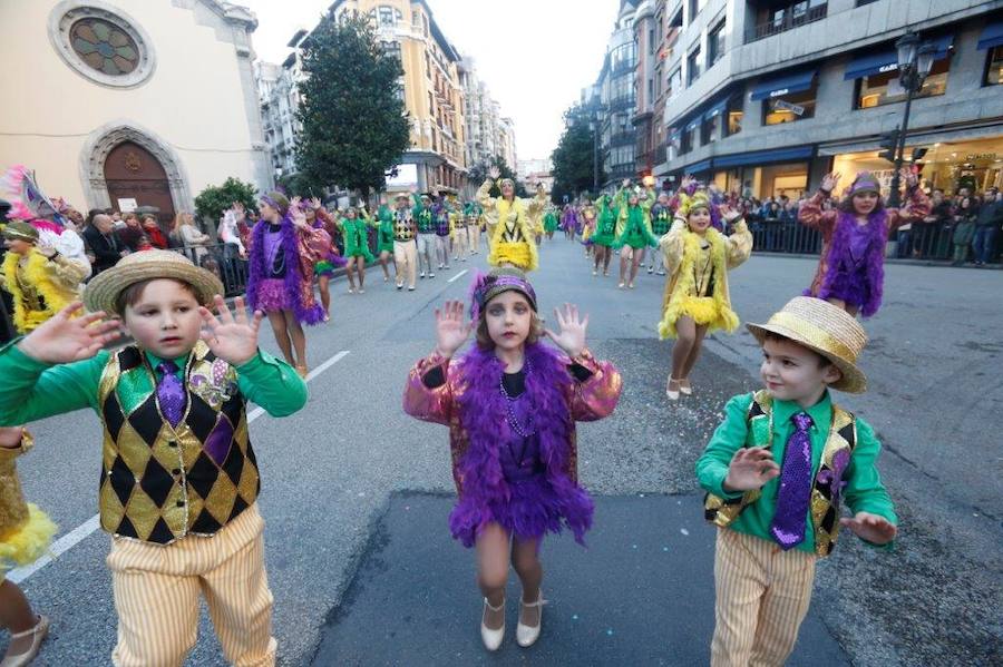
[[[668,0],[665,160],[654,173],[759,197],[798,194],[830,171],[876,171],[903,121],[895,41],[934,49],[907,148],[931,187],[1003,184],[1003,2]],[[907,150],[908,157],[908,150]]]

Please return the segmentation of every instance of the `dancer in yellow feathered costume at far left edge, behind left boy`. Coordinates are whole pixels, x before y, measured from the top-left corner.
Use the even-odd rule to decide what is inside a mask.
[[[78,263],[52,248],[39,249],[38,238],[38,229],[28,223],[14,222],[3,228],[8,252],[0,269],[0,287],[13,297],[13,324],[21,334],[80,298],[86,277]]]

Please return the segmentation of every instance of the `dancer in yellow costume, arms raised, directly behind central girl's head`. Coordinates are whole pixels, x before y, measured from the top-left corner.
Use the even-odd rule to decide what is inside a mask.
[[[491,177],[497,177],[495,171]],[[488,229],[488,264],[516,266],[535,271],[539,266],[536,235],[542,232],[539,216],[547,204],[547,194],[541,185],[536,197],[520,199],[515,196],[515,183],[505,178],[498,183],[501,196],[490,196],[491,179],[477,190],[477,202],[484,208]]]

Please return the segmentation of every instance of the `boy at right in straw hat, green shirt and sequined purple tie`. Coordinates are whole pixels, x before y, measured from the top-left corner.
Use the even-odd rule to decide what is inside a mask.
[[[711,665],[783,665],[808,612],[816,560],[840,526],[890,548],[897,518],[875,465],[880,443],[829,390],[863,393],[859,323],[828,302],[799,296],[766,324],[766,389],[734,396],[697,461],[717,524]],[[853,518],[839,518],[840,500]]]

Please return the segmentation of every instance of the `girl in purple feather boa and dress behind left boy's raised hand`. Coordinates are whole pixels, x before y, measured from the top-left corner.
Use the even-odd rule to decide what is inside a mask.
[[[252,311],[267,314],[282,355],[305,377],[302,324],[324,318],[313,296],[313,267],[331,252],[331,237],[306,223],[299,197],[290,202],[281,193],[269,193],[259,208],[261,219],[251,232],[247,303]]]

